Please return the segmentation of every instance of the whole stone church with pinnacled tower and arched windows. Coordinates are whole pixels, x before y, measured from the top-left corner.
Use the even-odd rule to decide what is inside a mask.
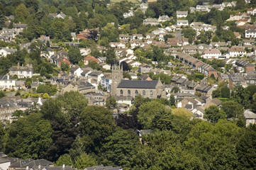
[[[165,86],[160,80],[126,80],[123,70],[117,66],[112,68],[111,96],[132,96],[140,94],[145,98],[166,98]]]

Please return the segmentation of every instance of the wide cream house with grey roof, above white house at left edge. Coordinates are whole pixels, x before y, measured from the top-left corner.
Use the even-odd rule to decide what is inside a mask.
[[[13,66],[9,69],[9,74],[11,76],[18,76],[18,79],[23,79],[23,78],[31,78],[33,76],[33,66],[32,64],[27,64],[26,66]]]

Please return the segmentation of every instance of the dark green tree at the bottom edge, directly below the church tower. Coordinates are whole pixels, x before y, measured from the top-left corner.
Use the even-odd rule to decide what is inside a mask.
[[[111,136],[106,137],[103,145],[105,164],[130,168],[131,160],[140,145],[138,135],[133,130],[117,128]]]

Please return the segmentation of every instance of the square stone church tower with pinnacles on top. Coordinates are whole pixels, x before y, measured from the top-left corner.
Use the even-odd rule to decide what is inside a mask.
[[[116,96],[116,89],[118,84],[123,79],[123,68],[121,66],[121,69],[118,65],[113,64],[112,65],[112,84],[111,84],[111,96]]]

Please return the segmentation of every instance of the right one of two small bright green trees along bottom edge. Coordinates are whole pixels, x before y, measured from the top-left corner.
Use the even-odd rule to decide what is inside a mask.
[[[86,167],[96,166],[96,159],[86,153],[81,154],[74,161],[74,167],[77,169],[85,169]]]

